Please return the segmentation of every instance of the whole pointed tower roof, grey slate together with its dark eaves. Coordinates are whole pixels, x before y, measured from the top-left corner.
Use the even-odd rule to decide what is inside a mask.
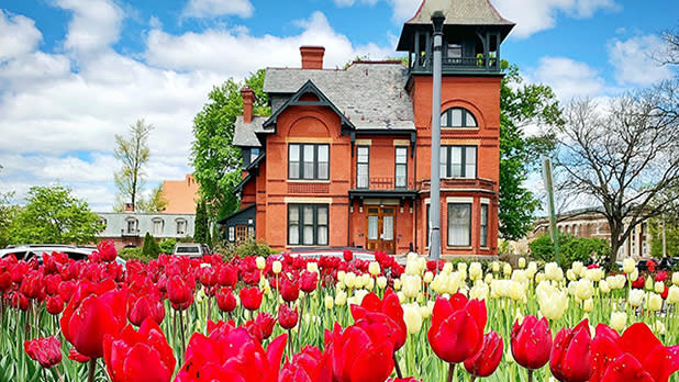
[[[415,15],[403,24],[397,50],[408,50],[404,41],[415,30],[431,30],[432,14],[443,11],[446,16],[444,25],[452,26],[494,26],[507,37],[514,23],[504,19],[489,0],[423,0]]]

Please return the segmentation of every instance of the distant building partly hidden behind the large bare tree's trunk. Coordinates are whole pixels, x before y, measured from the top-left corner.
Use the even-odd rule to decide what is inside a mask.
[[[570,234],[577,237],[598,237],[611,240],[611,228],[609,222],[598,209],[580,209],[568,211],[557,215],[557,229],[560,233]],[[535,226],[528,241],[538,235],[549,231],[549,218],[539,217],[535,221]],[[637,224],[625,239],[617,251],[617,258],[624,259],[633,257],[635,259],[647,258],[650,256],[650,234],[648,233],[648,222]]]

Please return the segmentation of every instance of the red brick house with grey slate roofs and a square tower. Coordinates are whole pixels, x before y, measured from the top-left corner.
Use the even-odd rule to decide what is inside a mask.
[[[243,89],[242,210],[221,221],[227,239],[426,252],[436,3],[425,0],[403,25],[397,50],[408,67],[323,69],[324,48],[303,46],[301,68],[266,70],[271,115],[254,116]],[[443,4],[442,254],[496,255],[500,44],[514,24],[487,0]]]

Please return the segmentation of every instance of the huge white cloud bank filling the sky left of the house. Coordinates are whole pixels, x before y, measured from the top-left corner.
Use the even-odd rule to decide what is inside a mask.
[[[155,126],[146,168],[152,188],[191,171],[192,119],[212,87],[229,77],[269,65],[299,67],[303,44],[325,45],[329,67],[358,55],[392,54],[390,47],[353,45],[316,12],[287,37],[255,36],[240,26],[172,35],[152,19],[140,59],[111,48],[124,18],[113,2],[58,5],[73,10],[63,53],[38,48],[42,34],[33,20],[0,14],[0,192],[13,190],[18,200],[32,186],[58,182],[93,209],[108,210],[119,168],[114,135],[137,119]],[[16,38],[2,40],[7,33]]]

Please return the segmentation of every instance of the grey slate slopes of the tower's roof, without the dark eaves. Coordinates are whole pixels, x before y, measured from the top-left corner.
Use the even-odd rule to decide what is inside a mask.
[[[432,14],[443,11],[446,25],[514,25],[488,0],[424,0],[405,24],[432,24]]]

